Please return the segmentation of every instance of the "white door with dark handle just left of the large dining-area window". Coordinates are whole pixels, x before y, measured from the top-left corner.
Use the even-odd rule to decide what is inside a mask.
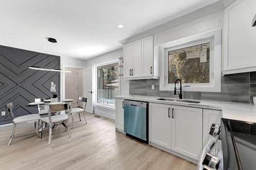
[[[93,86],[92,86],[92,68],[84,69],[83,73],[83,96],[87,98],[86,111],[93,113]]]

